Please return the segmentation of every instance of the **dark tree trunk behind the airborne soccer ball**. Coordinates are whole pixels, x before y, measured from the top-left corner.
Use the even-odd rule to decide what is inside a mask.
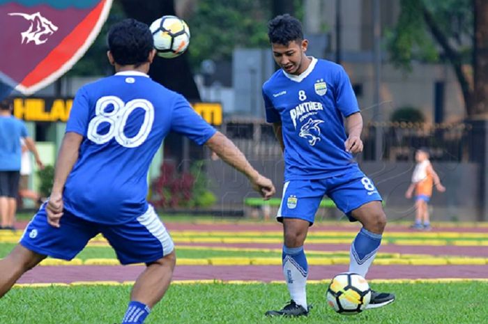
[[[164,15],[176,15],[173,0],[121,0],[128,17],[151,24]],[[191,45],[190,45],[191,47]],[[190,101],[199,101],[200,94],[186,59],[187,53],[175,59],[156,57],[149,70],[149,76],[163,86],[181,93]]]

